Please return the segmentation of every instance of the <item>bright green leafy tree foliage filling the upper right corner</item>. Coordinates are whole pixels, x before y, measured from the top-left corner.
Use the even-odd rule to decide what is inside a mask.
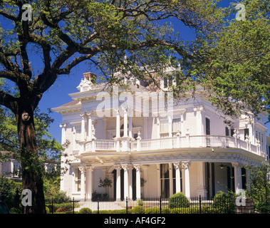
[[[209,100],[226,115],[270,105],[270,1],[244,0],[246,20],[234,18],[207,36],[197,33],[194,59],[182,69],[209,92]],[[228,13],[235,15],[235,4]],[[228,15],[228,16],[229,16]]]

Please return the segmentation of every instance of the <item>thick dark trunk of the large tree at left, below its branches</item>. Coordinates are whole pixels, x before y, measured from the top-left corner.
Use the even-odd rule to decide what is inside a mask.
[[[42,166],[38,157],[31,105],[20,107],[16,118],[21,150],[22,188],[31,191],[30,195],[24,195],[28,204],[24,207],[24,214],[46,214]]]

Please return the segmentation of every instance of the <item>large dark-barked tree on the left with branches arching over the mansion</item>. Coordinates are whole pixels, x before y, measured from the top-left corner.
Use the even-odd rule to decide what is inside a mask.
[[[31,5],[31,20],[30,8],[24,4]],[[152,70],[158,75],[180,62],[180,83],[172,89],[183,94],[196,83],[203,84],[206,73],[212,72],[199,69],[216,53],[211,52],[211,41],[217,36],[211,36],[224,22],[214,0],[4,0],[0,1],[0,16],[4,21],[0,27],[0,77],[19,88],[19,95],[1,90],[0,104],[16,115],[23,188],[30,189],[33,196],[33,207],[27,213],[45,213],[33,112],[59,76],[87,61],[109,85],[122,83],[121,71],[159,86]],[[197,40],[183,41],[181,33],[166,23],[170,18],[191,28],[198,34]],[[210,57],[204,57],[203,46]],[[37,56],[40,64],[36,64]],[[213,77],[204,83],[206,88]]]

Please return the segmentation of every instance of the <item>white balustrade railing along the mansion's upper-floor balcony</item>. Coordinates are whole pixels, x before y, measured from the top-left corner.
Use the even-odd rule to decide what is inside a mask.
[[[236,137],[222,135],[186,135],[172,138],[157,138],[141,140],[129,140],[129,138],[119,138],[118,140],[96,140],[79,141],[83,152],[100,152],[100,151],[147,151],[147,150],[167,150],[175,148],[199,148],[199,147],[223,147],[239,148],[253,152],[254,154],[265,157],[261,145],[251,144],[250,140],[240,140]]]

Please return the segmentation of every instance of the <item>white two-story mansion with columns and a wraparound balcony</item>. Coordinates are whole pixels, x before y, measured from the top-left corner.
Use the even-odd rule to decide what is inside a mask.
[[[73,100],[53,108],[62,115],[62,142],[71,142],[61,179],[70,197],[212,197],[246,188],[245,167],[267,159],[266,113],[227,117],[227,125],[202,88],[196,99],[187,93],[170,103],[170,95],[151,92],[139,81],[110,93],[105,84],[92,83],[93,73],[83,76],[78,93],[69,94]],[[166,100],[170,105],[162,105]],[[111,187],[99,187],[100,180]]]

